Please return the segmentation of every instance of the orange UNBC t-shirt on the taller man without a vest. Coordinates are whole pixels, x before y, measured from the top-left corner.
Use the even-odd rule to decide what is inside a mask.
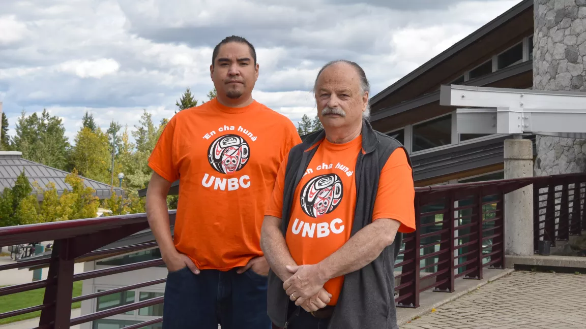
[[[300,142],[291,120],[256,101],[230,108],[214,98],[173,116],[148,165],[180,179],[175,248],[200,269],[229,270],[262,256],[266,201]]]

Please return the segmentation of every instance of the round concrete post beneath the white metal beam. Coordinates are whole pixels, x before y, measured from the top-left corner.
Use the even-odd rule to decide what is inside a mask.
[[[530,139],[505,140],[505,179],[533,176]],[[505,195],[505,255],[533,256],[533,185]]]

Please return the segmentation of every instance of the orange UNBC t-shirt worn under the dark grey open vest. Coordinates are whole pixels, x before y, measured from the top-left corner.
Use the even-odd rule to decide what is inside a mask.
[[[285,241],[298,265],[321,262],[350,239],[356,207],[355,167],[362,152],[362,136],[344,144],[324,139],[295,189]],[[287,159],[281,165],[265,214],[281,217]],[[381,170],[374,202],[373,221],[391,218],[401,222],[400,232],[415,230],[411,167],[403,149],[397,149]],[[344,277],[323,286],[338,302]]]

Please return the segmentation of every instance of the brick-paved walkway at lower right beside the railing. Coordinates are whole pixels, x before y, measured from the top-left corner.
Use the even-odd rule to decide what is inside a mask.
[[[400,328],[586,328],[586,275],[513,272]]]

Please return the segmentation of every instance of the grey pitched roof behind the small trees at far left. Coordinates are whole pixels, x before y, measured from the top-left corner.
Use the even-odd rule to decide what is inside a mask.
[[[65,183],[65,177],[69,174],[68,172],[23,159],[21,152],[0,152],[0,192],[6,187],[12,188],[23,170],[30,184],[36,181],[40,187],[45,188],[46,184],[53,182],[59,195],[64,190],[71,190],[71,186]],[[122,190],[119,187],[112,187],[86,177],[80,176],[80,178],[83,179],[84,186],[96,190],[94,196],[100,199],[109,198],[111,189],[114,189],[114,193],[117,195],[122,194]],[[42,200],[42,196],[39,196],[39,200]]]

